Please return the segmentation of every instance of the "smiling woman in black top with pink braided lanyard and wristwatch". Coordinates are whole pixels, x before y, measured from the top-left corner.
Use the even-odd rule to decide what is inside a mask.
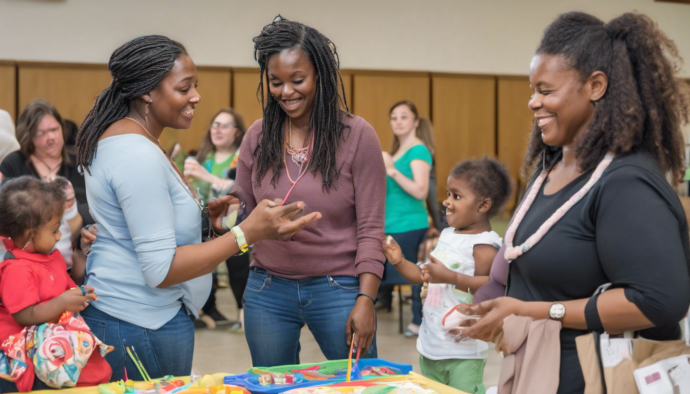
[[[506,233],[507,246],[525,246],[506,252],[513,259],[508,297],[458,309],[484,315],[461,335],[478,339],[511,314],[560,319],[558,393],[584,390],[578,335],[603,328],[680,337],[690,305],[689,234],[667,179],[677,184],[684,173],[680,124],[690,94],[674,75],[677,60],[675,44],[649,17],[628,13],[604,24],[582,12],[551,23],[532,59],[536,119],[523,169],[536,170],[528,190],[544,179],[542,170],[548,176],[535,185],[531,205],[523,201],[524,217],[513,217],[513,239]],[[605,170],[595,171],[602,161]],[[597,177],[549,230],[538,231]],[[543,236],[526,243],[533,234]],[[613,288],[588,304],[609,282]]]

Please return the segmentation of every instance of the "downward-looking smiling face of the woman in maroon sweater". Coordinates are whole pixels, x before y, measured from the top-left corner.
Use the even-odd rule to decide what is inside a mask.
[[[317,74],[304,50],[291,48],[268,57],[268,90],[291,119],[311,117]]]

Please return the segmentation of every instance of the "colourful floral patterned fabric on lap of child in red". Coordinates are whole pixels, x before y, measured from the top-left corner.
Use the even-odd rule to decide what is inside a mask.
[[[26,392],[31,390],[34,376],[53,388],[75,387],[92,353],[97,351],[105,357],[112,351],[112,346],[95,337],[78,314],[65,312],[57,323],[25,327],[16,335],[10,335],[0,350],[4,352],[4,355],[0,354],[3,359],[0,361],[0,377],[14,382],[19,391]],[[109,367],[108,371],[90,372],[103,375],[104,382],[111,374]]]

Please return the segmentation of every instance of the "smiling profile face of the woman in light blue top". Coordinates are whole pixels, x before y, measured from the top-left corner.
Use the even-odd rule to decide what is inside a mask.
[[[146,95],[144,95],[146,99]],[[186,129],[192,126],[194,106],[201,102],[197,92],[197,66],[180,55],[170,72],[150,92],[148,117],[162,127]]]

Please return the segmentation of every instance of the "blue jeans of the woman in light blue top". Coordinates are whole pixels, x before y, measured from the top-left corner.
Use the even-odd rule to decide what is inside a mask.
[[[145,380],[125,350],[135,348],[141,364],[152,379],[164,375],[185,376],[192,372],[194,355],[194,323],[184,306],[170,322],[157,330],[139,327],[123,322],[89,306],[81,312],[91,332],[104,344],[115,350],[106,355],[112,368],[111,382],[127,377],[131,380]]]

